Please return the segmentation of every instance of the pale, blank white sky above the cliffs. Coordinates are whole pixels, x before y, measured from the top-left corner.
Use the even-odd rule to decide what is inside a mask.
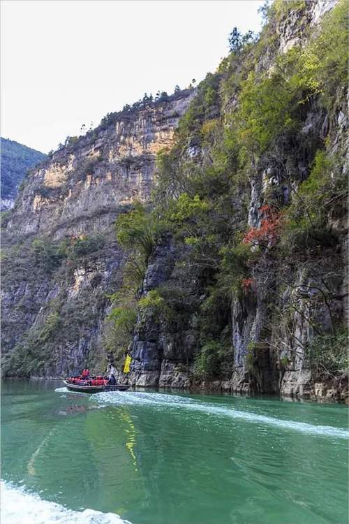
[[[47,153],[82,124],[214,72],[262,0],[1,0],[1,136]]]

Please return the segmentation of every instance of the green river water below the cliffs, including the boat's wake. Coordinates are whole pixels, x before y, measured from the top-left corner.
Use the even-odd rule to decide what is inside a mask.
[[[348,523],[343,405],[60,387],[2,384],[12,490],[133,524]]]

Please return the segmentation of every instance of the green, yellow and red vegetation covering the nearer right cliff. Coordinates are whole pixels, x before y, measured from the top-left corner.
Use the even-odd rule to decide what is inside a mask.
[[[199,379],[222,377],[227,363],[231,372],[233,298],[251,307],[263,300],[269,308],[246,353],[246,367],[257,380],[266,351],[276,367],[292,369],[300,346],[302,358],[318,370],[327,359],[328,337],[339,347],[328,357],[331,372],[346,364],[346,336],[335,306],[343,263],[334,220],[346,214],[344,145],[336,143],[336,132],[346,98],[348,5],[341,1],[313,34],[306,29],[306,45],[277,54],[275,24],[291,11],[302,16],[304,8],[302,1],[265,7],[257,42],[233,31],[232,52],[198,85],[172,149],[158,154],[154,209],[139,204],[117,221],[117,238],[126,249],[132,245],[132,264],[139,270],[133,324],[137,314],[142,321],[144,301],[165,326],[175,322],[177,330],[186,330],[195,319]],[[268,66],[262,65],[265,56]],[[258,184],[252,208],[251,187]],[[147,261],[164,231],[181,254],[175,278],[144,298]],[[302,267],[302,282],[295,282],[295,263]],[[285,294],[285,286],[294,293]],[[112,316],[120,324],[123,298],[117,298]],[[319,307],[327,311],[327,326],[319,323]],[[295,312],[315,334],[313,345],[296,340],[287,326]],[[291,334],[285,351],[285,340],[270,337],[280,319]],[[127,331],[129,342],[129,323]]]

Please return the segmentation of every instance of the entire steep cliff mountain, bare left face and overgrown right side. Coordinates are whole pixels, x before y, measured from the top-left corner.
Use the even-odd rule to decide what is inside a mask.
[[[346,398],[347,14],[274,1],[197,88],[30,173],[3,223],[5,376],[109,361],[138,386]]]

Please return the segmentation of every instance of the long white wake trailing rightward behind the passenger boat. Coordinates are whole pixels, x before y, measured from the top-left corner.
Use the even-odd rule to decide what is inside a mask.
[[[109,393],[97,393],[94,400],[103,404],[112,405],[144,405],[158,407],[182,407],[184,409],[203,412],[207,414],[228,416],[232,419],[243,419],[251,423],[274,425],[285,430],[295,430],[309,435],[321,435],[325,437],[349,438],[349,431],[342,428],[334,428],[331,425],[313,425],[306,422],[275,419],[272,416],[260,415],[253,412],[239,411],[226,405],[209,404],[198,402],[192,398],[179,395],[164,395],[163,393],[131,393],[112,391]]]

